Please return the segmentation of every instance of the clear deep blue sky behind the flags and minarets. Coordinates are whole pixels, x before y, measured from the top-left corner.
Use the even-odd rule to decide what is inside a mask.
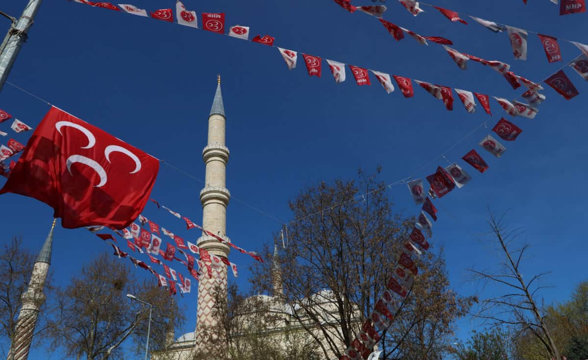
[[[198,13],[225,12],[226,26],[250,26],[252,36],[272,35],[276,46],[323,59],[505,98],[523,92],[513,91],[502,76],[480,64],[470,61],[469,69],[461,71],[440,45],[420,46],[410,37],[396,42],[377,19],[360,12],[349,14],[329,0],[271,5],[255,0],[186,0],[184,4]],[[24,5],[24,0],[11,1],[2,10],[18,15]],[[175,1],[141,0],[133,5],[154,11],[173,8]],[[527,6],[507,0],[436,0],[435,5],[588,43],[582,37],[587,15],[559,16],[559,9],[547,0],[532,0]],[[505,33],[493,34],[464,16],[470,25],[449,22],[431,8],[414,18],[396,1],[387,6],[388,21],[421,35],[449,38],[457,50],[507,62],[516,74],[533,81],[562,66],[547,63],[536,35],[529,34],[528,60],[516,61]],[[565,61],[579,55],[571,44],[560,42],[560,46]],[[421,88],[415,88],[411,99],[398,90],[386,94],[372,75],[372,86],[357,86],[349,69],[347,81],[335,84],[324,61],[322,78],[309,78],[301,56],[298,68],[288,71],[278,50],[269,46],[65,0],[45,1],[41,6],[9,81],[203,179],[201,151],[219,73],[231,152],[227,184],[234,198],[289,221],[288,200],[305,186],[353,179],[359,166],[372,172],[379,164],[380,178],[395,182],[414,174],[487,120],[489,129],[482,127],[446,155],[462,165],[473,181],[435,202],[439,220],[432,242],[437,249],[445,248],[452,287],[463,295],[478,294],[483,289],[469,281],[466,269],[496,268],[494,246],[483,241],[488,205],[496,212],[510,209],[509,225],[522,226],[522,239],[533,245],[523,276],[553,271],[545,281],[554,286],[543,292],[546,302],[563,301],[585,278],[582,265],[588,245],[582,181],[588,175],[584,166],[588,126],[583,121],[588,86],[570,68],[566,73],[580,96],[566,101],[547,88],[543,92],[547,101],[536,119],[513,120],[523,134],[515,142],[503,142],[507,152],[500,159],[477,146],[501,116],[507,117],[494,101],[493,118],[481,106],[476,114],[467,114],[456,94],[455,109],[448,112]],[[46,104],[9,85],[0,93],[0,108],[31,126],[38,125],[48,110]],[[22,143],[31,135],[15,135],[9,125],[0,124],[0,131]],[[472,148],[490,165],[485,174],[460,160]],[[416,176],[432,174],[437,165],[447,163],[439,159]],[[152,196],[199,223],[201,188],[198,181],[163,165]],[[419,208],[405,185],[393,186],[389,195],[399,212],[417,214]],[[4,241],[22,236],[32,251],[38,251],[52,209],[11,194],[0,196],[0,205],[5,209]],[[199,236],[186,232],[183,222],[158,212],[152,204],[144,214],[185,239],[195,242]],[[280,228],[279,222],[234,199],[227,224],[228,236],[246,249],[261,248]],[[84,229],[56,229],[52,264],[56,282],[65,284],[102,251],[111,249]],[[253,260],[243,254],[232,254],[230,259],[240,272],[238,279],[229,275],[230,281],[247,289],[247,268]],[[139,276],[149,275],[137,271]],[[482,295],[493,291],[485,289]],[[179,302],[191,310],[182,333],[192,331],[196,291]],[[475,326],[463,319],[459,336]],[[30,358],[46,359],[46,354],[36,349]]]

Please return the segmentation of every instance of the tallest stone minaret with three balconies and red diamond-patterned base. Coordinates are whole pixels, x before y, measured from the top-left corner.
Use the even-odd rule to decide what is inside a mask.
[[[211,114],[208,116],[208,145],[202,151],[206,164],[206,183],[200,192],[202,202],[202,227],[222,236],[226,241],[226,206],[229,205],[230,192],[225,187],[226,163],[229,161],[229,149],[225,146],[225,107],[220,92],[220,75],[216,86],[215,99]],[[227,257],[229,246],[203,234],[198,239],[198,246],[216,256]],[[218,301],[226,302],[227,268],[224,264],[213,266],[212,278],[208,274],[200,276],[198,284],[198,316],[196,319],[196,344],[210,346],[209,331],[217,331],[219,321],[214,314],[215,295]],[[220,290],[220,293],[217,291]],[[213,335],[218,337],[218,333]]]

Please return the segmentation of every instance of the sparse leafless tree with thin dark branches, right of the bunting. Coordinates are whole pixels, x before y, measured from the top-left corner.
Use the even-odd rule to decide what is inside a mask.
[[[503,256],[500,270],[490,272],[469,269],[469,271],[479,281],[502,286],[506,294],[483,301],[476,316],[493,327],[510,326],[519,334],[529,331],[542,344],[548,358],[559,359],[559,351],[536,299],[537,292],[546,287],[539,285],[539,281],[549,272],[534,275],[529,281],[525,281],[520,269],[529,244],[516,248],[515,240],[521,234],[520,229],[509,230],[505,227],[503,219],[506,213],[500,218],[496,218],[491,211],[489,214],[488,223],[495,241],[498,242],[499,253]]]

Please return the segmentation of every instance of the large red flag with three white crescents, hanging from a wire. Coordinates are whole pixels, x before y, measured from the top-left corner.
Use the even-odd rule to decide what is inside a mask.
[[[158,170],[153,156],[51,108],[0,194],[45,202],[64,228],[123,229],[145,207]]]

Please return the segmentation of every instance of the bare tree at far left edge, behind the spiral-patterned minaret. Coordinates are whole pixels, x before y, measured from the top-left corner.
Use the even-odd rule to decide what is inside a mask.
[[[4,251],[0,254],[0,336],[8,346],[16,332],[16,320],[22,305],[21,295],[31,280],[34,261],[35,255],[23,248],[21,238],[12,238],[11,242],[4,244]],[[51,289],[51,276],[48,276],[45,295]],[[46,305],[41,306],[33,335],[35,342],[41,339],[41,336],[35,335],[45,330]],[[2,352],[6,353],[4,349]]]

